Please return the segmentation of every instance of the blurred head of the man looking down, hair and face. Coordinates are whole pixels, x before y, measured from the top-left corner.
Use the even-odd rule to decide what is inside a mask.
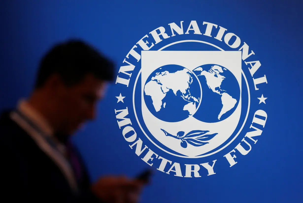
[[[113,75],[114,64],[95,48],[81,40],[69,40],[43,57],[34,95],[40,95],[37,98],[48,108],[44,110],[56,130],[72,134],[95,118],[97,101],[103,98]]]

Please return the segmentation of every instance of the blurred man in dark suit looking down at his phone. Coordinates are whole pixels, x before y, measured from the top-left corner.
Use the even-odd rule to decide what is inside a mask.
[[[1,114],[2,199],[137,201],[142,182],[104,177],[90,185],[69,142],[85,121],[96,117],[97,102],[113,78],[113,63],[83,41],[59,43],[45,55],[31,96]]]

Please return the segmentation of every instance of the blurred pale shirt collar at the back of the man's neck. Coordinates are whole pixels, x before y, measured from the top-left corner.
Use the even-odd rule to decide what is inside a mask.
[[[27,101],[18,102],[17,109],[27,116],[40,130],[47,135],[53,135],[54,131],[47,120],[36,111]]]

